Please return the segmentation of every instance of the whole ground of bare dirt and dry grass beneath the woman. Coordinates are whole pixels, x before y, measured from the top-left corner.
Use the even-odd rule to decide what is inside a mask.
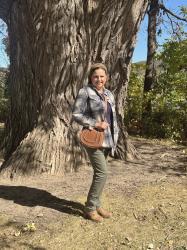
[[[186,148],[133,139],[142,159],[109,159],[101,224],[83,218],[92,179],[79,172],[0,179],[0,249],[187,249]]]

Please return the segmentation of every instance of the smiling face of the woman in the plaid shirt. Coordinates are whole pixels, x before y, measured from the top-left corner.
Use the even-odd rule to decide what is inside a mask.
[[[102,90],[107,81],[107,75],[103,69],[96,69],[92,76],[91,82],[97,90]]]

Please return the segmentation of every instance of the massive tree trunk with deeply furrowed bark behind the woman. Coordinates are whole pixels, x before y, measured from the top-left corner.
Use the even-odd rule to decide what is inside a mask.
[[[146,7],[146,0],[13,2],[8,22],[11,114],[3,173],[63,173],[80,165],[83,151],[77,127],[70,129],[69,121],[93,62],[109,68],[121,129],[116,157],[125,158],[125,149],[131,148],[123,127],[129,65]]]

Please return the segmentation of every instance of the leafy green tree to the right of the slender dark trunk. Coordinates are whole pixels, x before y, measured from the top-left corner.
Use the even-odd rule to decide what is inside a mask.
[[[153,102],[162,114],[160,130],[164,137],[187,143],[187,39],[173,37],[157,58],[161,64]]]

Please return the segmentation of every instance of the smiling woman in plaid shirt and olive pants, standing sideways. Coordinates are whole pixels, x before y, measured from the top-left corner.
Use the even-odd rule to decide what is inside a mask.
[[[118,126],[113,94],[105,88],[108,79],[104,64],[91,66],[88,76],[89,84],[79,90],[74,108],[73,119],[83,127],[104,130],[103,145],[99,149],[85,147],[94,175],[87,201],[85,216],[95,222],[111,217],[111,213],[101,207],[100,197],[107,178],[107,156],[114,150],[118,138]]]

